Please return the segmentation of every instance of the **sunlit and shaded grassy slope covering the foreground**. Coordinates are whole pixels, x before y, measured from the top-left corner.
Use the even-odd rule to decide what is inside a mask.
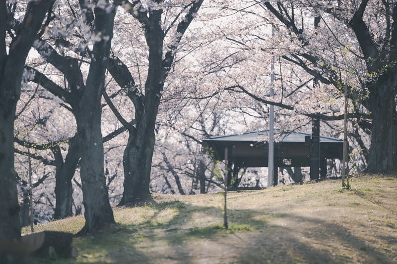
[[[397,178],[340,180],[228,193],[158,195],[114,208],[116,225],[74,238],[76,260],[48,263],[396,263]],[[76,233],[82,216],[38,225]],[[27,232],[27,229],[23,230]]]

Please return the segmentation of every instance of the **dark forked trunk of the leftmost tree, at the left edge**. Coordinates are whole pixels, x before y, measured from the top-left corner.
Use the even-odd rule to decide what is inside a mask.
[[[0,240],[20,240],[21,223],[14,170],[14,120],[26,57],[51,0],[31,1],[6,52],[6,3],[0,0]]]

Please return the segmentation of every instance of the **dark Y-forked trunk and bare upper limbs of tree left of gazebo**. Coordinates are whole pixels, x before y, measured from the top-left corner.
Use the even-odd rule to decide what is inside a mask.
[[[192,1],[188,14],[177,26],[174,44],[168,47],[163,59],[163,41],[165,32],[162,29],[162,9],[149,7],[142,11],[140,1],[134,1],[132,15],[139,20],[145,31],[145,40],[149,48],[148,73],[145,82],[144,96],[130,92],[129,97],[135,106],[136,129],[130,131],[130,138],[124,153],[124,193],[119,205],[133,203],[136,199],[149,194],[151,160],[154,149],[154,125],[163,92],[164,81],[171,69],[178,44],[195,17],[203,0]],[[135,11],[136,10],[136,11]],[[126,72],[125,72],[126,73]],[[131,77],[131,74],[119,76]],[[119,84],[122,82],[119,82]],[[129,82],[130,85],[133,82]],[[128,86],[124,86],[128,87]],[[143,101],[141,99],[144,98]]]

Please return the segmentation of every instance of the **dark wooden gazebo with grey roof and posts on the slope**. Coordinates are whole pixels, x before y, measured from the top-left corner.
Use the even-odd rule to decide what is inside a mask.
[[[320,131],[320,129],[318,129]],[[318,132],[319,133],[319,132]],[[228,187],[237,187],[238,171],[244,167],[268,166],[269,131],[210,137],[203,140],[215,158],[228,164]],[[317,151],[316,151],[317,150]],[[278,167],[311,167],[310,179],[326,177],[327,159],[342,159],[343,140],[294,131],[276,133],[273,185],[278,183]],[[235,178],[235,181],[232,179]]]

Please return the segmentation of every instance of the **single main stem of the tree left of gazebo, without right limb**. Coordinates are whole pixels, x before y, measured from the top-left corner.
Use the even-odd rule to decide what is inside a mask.
[[[155,143],[154,126],[160,105],[166,72],[163,64],[162,10],[152,10],[150,31],[145,33],[149,47],[149,68],[145,82],[143,111],[135,111],[136,129],[124,152],[124,192],[119,205],[134,203],[149,194],[150,172]],[[139,106],[142,107],[142,106]],[[136,106],[135,106],[136,108]],[[140,116],[139,116],[140,114]]]

